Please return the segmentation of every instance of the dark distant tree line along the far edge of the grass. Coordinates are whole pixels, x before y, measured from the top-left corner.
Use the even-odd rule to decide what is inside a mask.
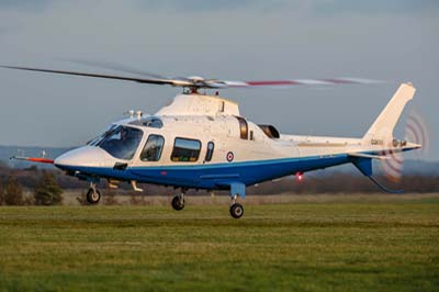
[[[403,189],[405,192],[426,193],[439,192],[439,176],[409,175],[394,183],[383,176],[378,180],[392,189]],[[102,180],[99,188],[105,189],[106,182]],[[122,183],[121,189],[125,194],[131,186]],[[0,161],[0,204],[3,205],[56,205],[63,202],[63,189],[87,190],[89,183],[77,178],[64,175],[56,169],[41,170],[36,166],[24,169],[9,168]],[[33,196],[24,196],[23,189],[31,191]],[[160,195],[175,191],[172,188],[147,184],[144,186],[145,194]],[[303,180],[288,177],[277,181],[268,181],[250,187],[248,194],[281,194],[281,193],[373,193],[381,192],[375,184],[362,175],[350,172],[309,172]],[[216,192],[222,193],[222,192]],[[226,192],[225,192],[226,193]],[[189,194],[206,194],[205,191],[191,190]],[[110,200],[111,198],[109,198]]]

